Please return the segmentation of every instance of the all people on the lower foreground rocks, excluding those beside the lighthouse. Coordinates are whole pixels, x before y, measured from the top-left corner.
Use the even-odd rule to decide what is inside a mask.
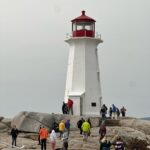
[[[62,140],[62,150],[68,150],[68,139],[69,139],[69,134],[70,134],[70,120],[62,120],[59,123],[59,138]],[[90,119],[84,119],[81,118],[77,122],[77,127],[80,129],[80,134],[83,136],[83,141],[86,142],[88,139],[88,136],[91,134],[91,121]],[[100,150],[110,150],[111,145],[114,145],[115,150],[124,150],[124,143],[119,136],[115,136],[115,142],[109,141],[107,139],[107,128],[105,124],[105,120],[102,120],[99,128],[99,141],[100,141]],[[15,125],[13,125],[13,128],[11,130],[11,135],[12,135],[12,147],[13,145],[16,146],[16,139],[18,136],[18,129],[16,128]],[[51,150],[55,150],[56,147],[56,140],[57,140],[57,135],[55,130],[53,129],[50,134],[48,130],[44,126],[40,126],[39,129],[39,143],[41,145],[41,150],[46,150],[46,143],[47,139],[50,139],[50,147]]]

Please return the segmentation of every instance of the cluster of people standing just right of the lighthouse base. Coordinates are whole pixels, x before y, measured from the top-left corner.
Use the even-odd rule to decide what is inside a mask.
[[[117,119],[118,117],[120,117],[120,113],[122,114],[122,117],[126,116],[126,108],[124,106],[121,109],[119,109],[114,104],[112,104],[112,107],[110,107],[108,110],[107,106],[103,104],[100,109],[100,114],[102,116],[102,119],[106,118],[107,111],[109,113],[109,117],[112,119]]]

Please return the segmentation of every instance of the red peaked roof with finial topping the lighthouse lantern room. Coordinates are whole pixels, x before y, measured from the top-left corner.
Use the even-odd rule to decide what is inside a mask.
[[[71,21],[73,23],[74,22],[82,22],[82,21],[84,21],[84,22],[96,22],[93,18],[90,18],[90,17],[86,16],[84,10],[82,11],[82,15],[81,16],[79,16],[79,17],[77,17],[77,18],[75,18],[75,19],[73,19]]]

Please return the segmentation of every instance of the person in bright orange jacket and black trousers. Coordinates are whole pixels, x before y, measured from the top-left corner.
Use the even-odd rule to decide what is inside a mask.
[[[47,138],[48,138],[48,131],[43,126],[40,129],[41,150],[46,150],[46,141],[47,141]]]

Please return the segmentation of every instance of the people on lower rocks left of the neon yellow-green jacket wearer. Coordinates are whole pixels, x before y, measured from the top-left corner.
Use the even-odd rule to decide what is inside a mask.
[[[68,136],[69,136],[69,131],[70,131],[70,120],[67,120],[65,124],[64,124],[64,121],[62,121],[59,124],[59,129],[60,129],[61,140],[63,141],[63,146],[61,150],[67,150],[68,149]],[[17,147],[18,133],[19,131],[16,128],[16,125],[13,125],[11,132],[10,132],[12,136],[12,148]],[[44,126],[40,126],[39,134],[38,134],[38,145],[41,145],[41,150],[47,149],[48,138],[50,139],[50,149],[55,150],[56,140],[57,140],[57,135],[56,135],[55,130],[53,129],[49,134],[48,130]]]

